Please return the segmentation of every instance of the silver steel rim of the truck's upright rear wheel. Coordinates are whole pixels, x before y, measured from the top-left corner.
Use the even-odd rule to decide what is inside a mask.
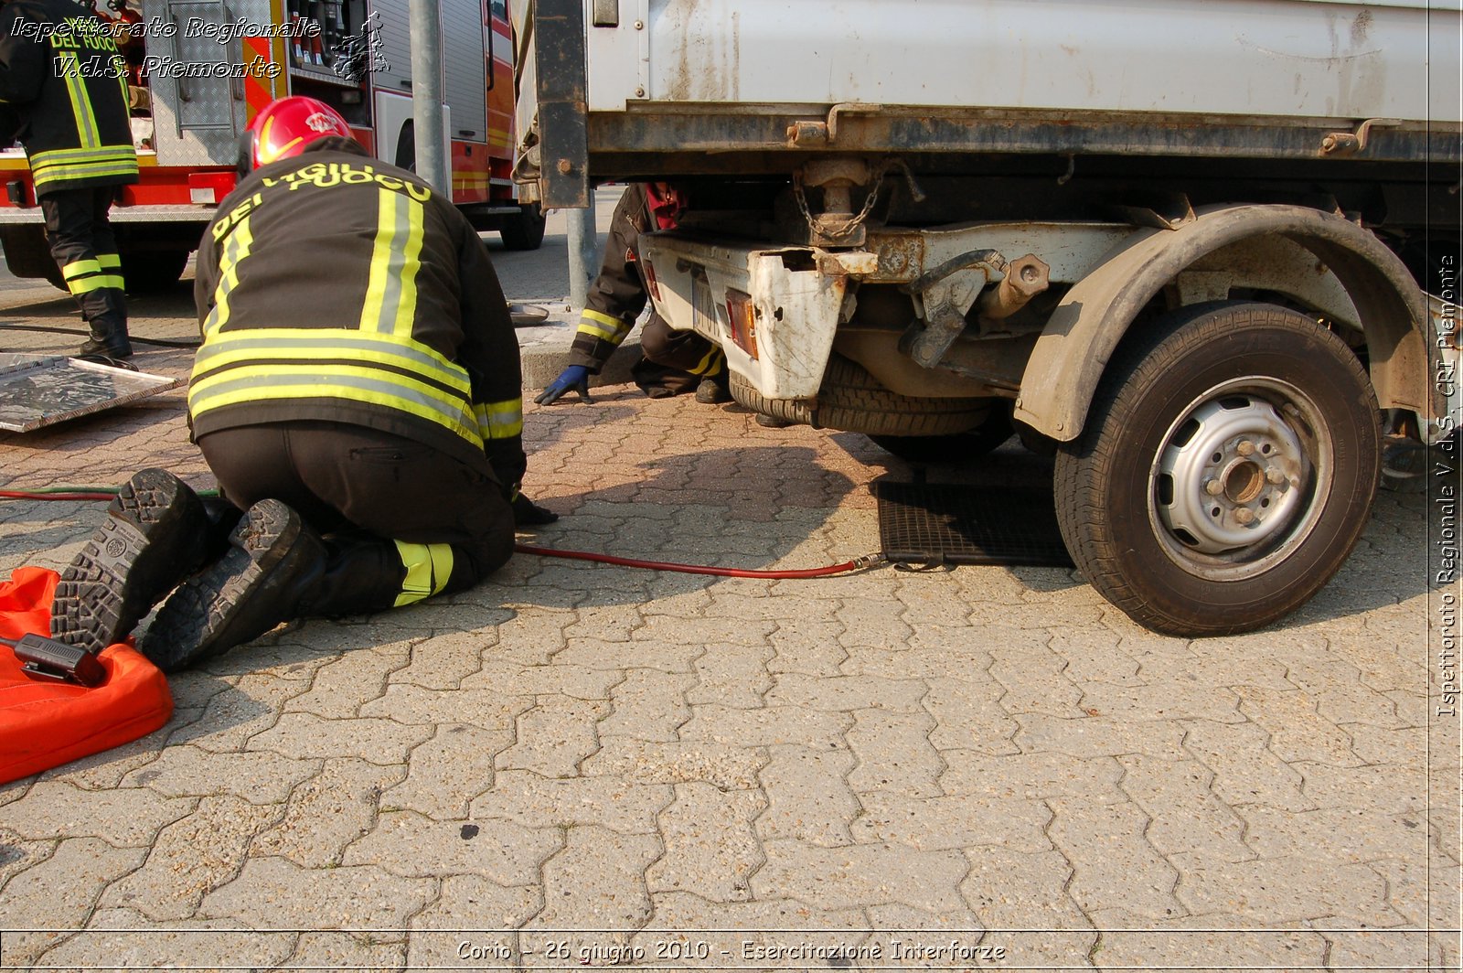
[[[1274,377],[1230,379],[1167,427],[1148,474],[1148,519],[1188,574],[1238,581],[1283,562],[1315,530],[1334,478],[1315,401]]]

